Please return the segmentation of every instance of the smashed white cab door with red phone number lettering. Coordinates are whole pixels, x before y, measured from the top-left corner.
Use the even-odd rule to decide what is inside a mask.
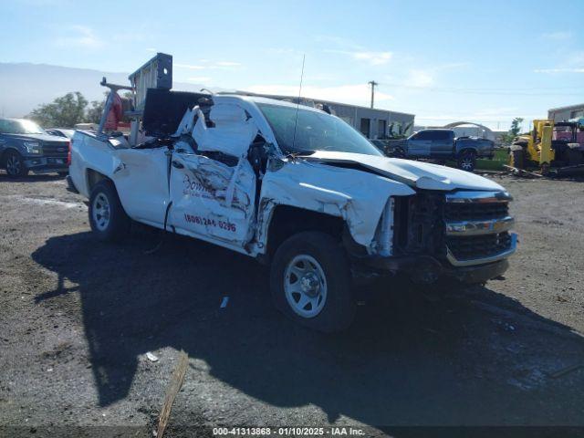
[[[255,223],[255,172],[246,156],[257,129],[245,110],[215,105],[213,128],[202,115],[193,130],[197,151],[174,151],[169,224],[212,242],[244,246]]]

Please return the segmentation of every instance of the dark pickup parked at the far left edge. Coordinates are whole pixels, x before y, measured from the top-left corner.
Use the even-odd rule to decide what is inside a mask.
[[[12,177],[28,172],[68,173],[68,139],[49,135],[34,121],[0,119],[0,165]]]

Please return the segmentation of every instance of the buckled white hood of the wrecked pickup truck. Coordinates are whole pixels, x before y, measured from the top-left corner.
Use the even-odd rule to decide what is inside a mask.
[[[364,155],[360,153],[316,151],[306,157],[308,161],[325,162],[343,167],[353,167],[373,172],[405,183],[410,187],[426,190],[505,190],[501,185],[471,172],[464,172],[428,162],[413,162],[399,158]]]

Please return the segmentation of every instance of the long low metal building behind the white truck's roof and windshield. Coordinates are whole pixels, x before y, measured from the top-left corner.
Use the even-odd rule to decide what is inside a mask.
[[[293,96],[260,94],[247,91],[237,91],[237,94],[298,102],[298,98]],[[372,140],[388,139],[397,134],[410,135],[413,130],[415,116],[404,112],[371,109],[347,103],[310,98],[300,98],[300,105],[328,109],[331,114],[345,120],[349,125]]]

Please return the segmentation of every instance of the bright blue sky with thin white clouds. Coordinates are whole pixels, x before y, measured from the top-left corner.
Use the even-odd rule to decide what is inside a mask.
[[[584,1],[2,0],[0,62],[131,72],[301,94],[507,130],[584,102]],[[17,91],[15,91],[17,92]],[[524,123],[527,129],[528,121]]]

